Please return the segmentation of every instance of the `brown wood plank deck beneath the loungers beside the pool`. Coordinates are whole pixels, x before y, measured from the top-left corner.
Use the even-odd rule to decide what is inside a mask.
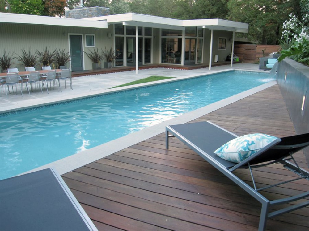
[[[295,134],[277,85],[204,115],[238,135]],[[306,168],[300,152],[297,161]],[[279,174],[274,174],[279,173]],[[250,181],[247,170],[239,177]],[[259,185],[291,178],[279,164],[255,171]],[[144,140],[62,175],[99,230],[257,230],[260,204],[176,138]],[[308,181],[264,192],[280,198],[308,190]],[[305,199],[304,199],[305,200]],[[308,208],[267,221],[267,230],[308,230]]]

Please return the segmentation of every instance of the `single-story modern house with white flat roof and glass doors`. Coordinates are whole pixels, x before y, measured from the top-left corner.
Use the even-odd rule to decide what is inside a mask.
[[[84,54],[93,48],[116,50],[115,66],[222,62],[233,53],[235,32],[248,24],[222,19],[178,20],[142,14],[116,14],[75,19],[0,13],[0,55],[65,49],[72,71],[92,69]],[[231,65],[232,65],[231,60]],[[22,64],[15,66],[21,70]]]

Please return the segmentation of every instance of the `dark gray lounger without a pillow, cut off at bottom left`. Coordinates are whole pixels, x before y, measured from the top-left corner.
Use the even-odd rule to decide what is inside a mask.
[[[0,230],[97,230],[50,168],[1,180],[0,207]]]

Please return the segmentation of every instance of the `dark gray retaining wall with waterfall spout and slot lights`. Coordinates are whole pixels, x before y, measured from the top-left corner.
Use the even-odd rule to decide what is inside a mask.
[[[291,59],[278,63],[277,82],[296,134],[309,131],[309,67]],[[309,148],[304,150],[309,167]]]

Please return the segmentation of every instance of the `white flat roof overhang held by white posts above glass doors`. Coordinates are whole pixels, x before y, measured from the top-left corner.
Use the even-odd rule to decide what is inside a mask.
[[[85,18],[85,20],[104,21],[108,24],[122,23],[122,25],[127,26],[144,26],[176,30],[185,30],[185,27],[197,26],[210,30],[226,30],[248,33],[249,28],[249,25],[247,23],[228,21],[218,18],[179,20],[135,13],[107,15],[87,19]]]

